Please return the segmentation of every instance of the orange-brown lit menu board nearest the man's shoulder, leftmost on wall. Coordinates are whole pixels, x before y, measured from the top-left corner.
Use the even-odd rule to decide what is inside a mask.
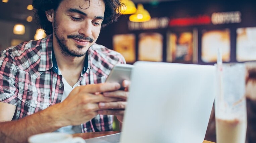
[[[113,36],[113,49],[123,55],[126,63],[134,63],[135,34],[118,34]]]

